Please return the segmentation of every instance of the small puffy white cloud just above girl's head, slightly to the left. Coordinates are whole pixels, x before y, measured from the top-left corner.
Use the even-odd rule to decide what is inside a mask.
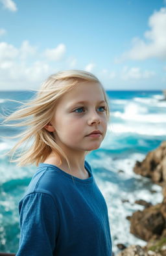
[[[56,48],[46,49],[43,54],[49,61],[60,61],[64,57],[65,51],[65,44],[59,44]]]

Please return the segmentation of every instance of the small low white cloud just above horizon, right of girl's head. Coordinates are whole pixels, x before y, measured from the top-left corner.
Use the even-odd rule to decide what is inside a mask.
[[[121,72],[121,78],[123,80],[148,79],[152,76],[155,76],[155,72],[149,70],[141,71],[141,69],[137,67],[128,68],[128,66],[124,66]]]

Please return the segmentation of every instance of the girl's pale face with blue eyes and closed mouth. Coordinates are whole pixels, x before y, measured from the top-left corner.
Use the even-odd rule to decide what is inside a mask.
[[[98,149],[106,134],[106,102],[101,85],[79,83],[60,98],[56,105],[52,126],[56,143],[63,150],[89,151]],[[89,135],[99,130],[101,135]]]

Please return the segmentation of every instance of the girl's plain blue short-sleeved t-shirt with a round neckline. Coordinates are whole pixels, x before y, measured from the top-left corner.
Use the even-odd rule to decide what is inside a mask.
[[[112,256],[106,201],[91,167],[73,177],[40,163],[19,201],[21,234],[16,256]]]

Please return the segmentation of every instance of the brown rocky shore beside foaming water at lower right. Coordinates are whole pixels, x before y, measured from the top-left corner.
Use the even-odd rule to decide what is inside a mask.
[[[147,241],[144,247],[134,245],[123,249],[116,256],[166,256],[166,141],[160,147],[148,152],[145,160],[137,161],[134,172],[152,179],[152,182],[162,186],[163,201],[157,205],[143,200],[136,201],[145,206],[128,216],[130,232],[138,238]]]

